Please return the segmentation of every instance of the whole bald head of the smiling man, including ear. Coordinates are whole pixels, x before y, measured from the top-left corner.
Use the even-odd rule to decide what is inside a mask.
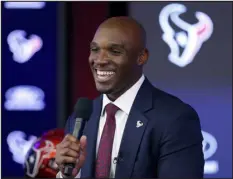
[[[148,59],[145,31],[134,20],[112,18],[97,30],[89,57],[96,88],[116,100],[142,76]]]

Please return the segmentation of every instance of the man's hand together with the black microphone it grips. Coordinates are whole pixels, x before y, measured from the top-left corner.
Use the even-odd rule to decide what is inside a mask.
[[[92,102],[86,98],[79,99],[75,105],[73,134],[66,135],[57,145],[55,161],[63,177],[75,177],[85,162],[87,138],[82,135],[91,112]]]

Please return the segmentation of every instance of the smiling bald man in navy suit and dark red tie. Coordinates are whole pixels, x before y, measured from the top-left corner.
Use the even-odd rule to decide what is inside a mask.
[[[93,113],[77,141],[67,135],[56,163],[75,163],[73,177],[202,178],[204,158],[197,113],[143,75],[146,33],[129,17],[107,19],[90,45],[96,88]],[[113,111],[114,110],[114,111]],[[72,133],[74,119],[67,121]]]

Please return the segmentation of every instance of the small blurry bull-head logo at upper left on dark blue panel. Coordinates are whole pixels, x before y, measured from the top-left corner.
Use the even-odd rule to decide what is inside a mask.
[[[25,38],[26,32],[14,30],[7,37],[10,51],[13,53],[13,60],[18,63],[25,63],[38,52],[43,45],[42,39],[37,35]]]

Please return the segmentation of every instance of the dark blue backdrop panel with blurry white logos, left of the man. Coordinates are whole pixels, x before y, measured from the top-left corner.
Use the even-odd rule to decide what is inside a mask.
[[[30,146],[57,126],[57,3],[4,2],[1,11],[1,172],[24,176]]]

